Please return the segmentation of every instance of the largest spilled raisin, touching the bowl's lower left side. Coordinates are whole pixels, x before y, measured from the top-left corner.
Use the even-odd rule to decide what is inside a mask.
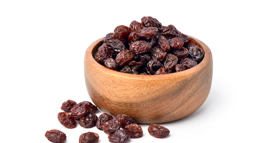
[[[88,113],[94,113],[98,110],[98,108],[93,105],[92,103],[88,101],[83,101],[78,104],[76,104],[72,109],[71,109],[71,116],[75,119],[81,118],[85,116]]]

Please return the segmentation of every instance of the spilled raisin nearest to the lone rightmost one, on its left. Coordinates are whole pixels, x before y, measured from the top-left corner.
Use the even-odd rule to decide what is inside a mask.
[[[124,128],[132,138],[142,137],[143,131],[140,125],[136,123],[128,124]]]

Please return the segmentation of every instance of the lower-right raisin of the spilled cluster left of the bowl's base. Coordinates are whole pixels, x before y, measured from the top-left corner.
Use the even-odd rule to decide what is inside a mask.
[[[98,117],[94,113],[89,113],[80,118],[79,124],[84,128],[90,128],[96,125]]]

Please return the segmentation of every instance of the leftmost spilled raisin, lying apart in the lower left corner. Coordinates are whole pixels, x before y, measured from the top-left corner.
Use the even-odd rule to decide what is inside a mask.
[[[45,137],[54,143],[59,143],[59,142],[63,142],[65,140],[67,140],[67,136],[66,134],[64,134],[63,132],[59,131],[59,130],[50,130],[47,131],[45,133]]]

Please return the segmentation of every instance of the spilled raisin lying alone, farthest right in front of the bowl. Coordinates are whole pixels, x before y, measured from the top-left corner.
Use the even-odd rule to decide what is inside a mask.
[[[163,138],[170,134],[170,131],[158,124],[150,124],[148,127],[148,133],[154,137]]]

